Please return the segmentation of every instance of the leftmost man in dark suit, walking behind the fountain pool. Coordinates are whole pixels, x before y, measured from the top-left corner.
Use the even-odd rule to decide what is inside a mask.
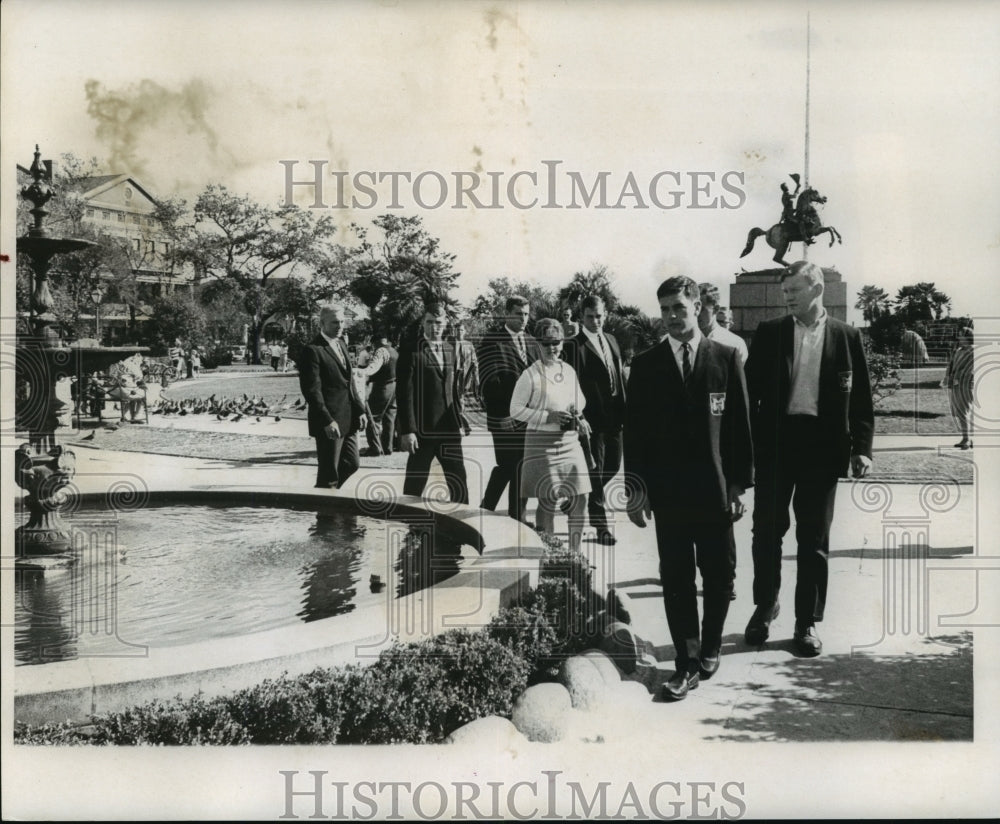
[[[351,380],[342,324],[337,307],[320,309],[320,333],[299,358],[299,386],[319,459],[317,487],[341,487],[359,466],[357,432],[364,426],[365,404]]]

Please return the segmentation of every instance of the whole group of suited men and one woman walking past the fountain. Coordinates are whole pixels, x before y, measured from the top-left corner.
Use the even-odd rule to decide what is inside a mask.
[[[733,523],[751,486],[755,609],[746,641],[765,643],[778,614],[791,507],[793,644],[800,655],[818,655],[837,480],[869,471],[874,412],[860,334],[824,309],[822,271],[793,264],[781,289],[789,314],[762,323],[748,350],[726,328],[714,287],[687,277],[664,281],[656,299],[666,334],[634,358],[628,374],[604,330],[598,296],[583,300],[579,323],[571,314],[539,319],[533,335],[529,302],[511,297],[478,348],[460,328],[446,338],[445,307],[428,304],[414,340],[397,350],[379,338],[363,367],[373,383],[367,399],[352,380],[341,312],[326,306],[299,363],[316,486],[339,487],[357,470],[358,433],[376,420],[379,437],[387,426],[398,429],[407,453],[404,494],[426,494],[437,460],[449,499],[467,504],[464,399],[478,387],[495,457],[482,508],[497,509],[506,492],[509,516],[526,522],[534,499],[539,529],[552,531],[561,510],[571,546],[580,545],[587,520],[598,541],[614,544],[605,491],[624,464],[628,517],[640,527],[652,519],[656,532],[676,656],[667,699],[684,698],[719,667],[735,579]],[[388,423],[390,397],[396,415]]]

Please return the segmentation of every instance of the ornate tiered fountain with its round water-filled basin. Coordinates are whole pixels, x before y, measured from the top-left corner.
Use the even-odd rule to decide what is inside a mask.
[[[36,148],[31,168],[34,182],[22,192],[35,206],[35,225],[18,240],[18,250],[31,260],[35,280],[31,323],[19,330],[17,350],[19,392],[15,409],[18,428],[30,433],[29,443],[17,450],[15,461],[17,482],[28,492],[24,499],[28,517],[17,532],[15,564],[18,600],[27,609],[22,609],[17,622],[20,637],[38,654],[29,650],[15,669],[17,721],[85,722],[95,713],[120,710],[151,698],[219,694],[282,673],[294,675],[317,666],[371,661],[397,640],[416,640],[452,627],[481,626],[526,587],[537,583],[545,548],[532,530],[491,512],[398,495],[378,474],[360,479],[354,496],[284,486],[178,488],[171,483],[176,478],[144,479],[122,471],[75,477],[74,454],[55,443],[62,406],[56,393],[57,380],[84,370],[107,368],[144,349],[67,346],[54,328],[56,318],[47,283],[51,260],[58,253],[86,248],[88,241],[48,237],[42,221],[44,205],[53,196],[51,166],[41,162],[40,156]],[[155,525],[157,516],[152,511],[168,506],[179,508],[180,517],[175,521],[181,526]],[[213,527],[222,530],[227,524],[245,526],[241,522],[250,522],[246,507],[257,510],[255,517],[263,521],[256,522],[268,523],[271,529],[296,519],[301,522],[305,511],[307,519],[315,519],[318,533],[325,529],[328,516],[346,514],[368,519],[368,523],[395,521],[406,527],[406,534],[416,525],[420,534],[442,536],[452,547],[446,555],[454,556],[456,546],[471,551],[463,551],[457,569],[450,569],[442,580],[433,563],[427,567],[419,562],[422,552],[416,540],[404,541],[390,551],[382,548],[376,556],[382,559],[381,565],[369,562],[354,569],[348,579],[333,557],[317,551],[315,545],[307,548],[293,541],[277,546],[267,540],[261,544],[261,536],[252,529],[241,539],[242,555],[227,553],[224,540],[209,546],[205,530],[199,532],[198,527],[186,523],[188,511],[206,507],[211,510]],[[126,516],[132,521],[132,532],[122,532],[132,537],[124,541],[117,532],[119,516],[122,523]],[[183,631],[175,643],[162,638],[154,642],[139,624],[129,625],[125,620],[128,616],[119,625],[117,612],[120,588],[135,583],[130,576],[150,575],[150,553],[146,552],[139,563],[141,548],[133,554],[134,569],[129,565],[129,544],[139,547],[144,535],[159,542],[154,554],[159,553],[164,565],[174,562],[181,572],[187,571],[184,567],[188,564],[181,559],[204,552],[204,558],[190,562],[198,586],[216,575],[218,580],[212,583],[224,589],[231,581],[235,588],[247,570],[240,560],[247,552],[251,558],[258,552],[276,556],[298,553],[298,564],[294,557],[291,560],[302,573],[301,580],[276,595],[277,601],[284,599],[279,606],[285,612],[272,615],[264,624],[254,623],[256,616],[251,614],[261,593],[272,594],[272,573],[264,566],[256,571],[258,589],[235,601],[219,599],[217,611],[226,617],[240,610],[248,613],[242,616],[242,623],[219,631],[208,629],[208,618],[202,620],[204,612],[199,612],[216,606],[208,590],[193,595],[195,608],[190,612],[169,604],[166,614],[176,609]],[[327,543],[324,549],[333,555],[352,558],[356,554],[346,542],[341,546],[339,538],[332,544],[323,540]],[[307,563],[301,562],[303,557],[308,558]],[[205,562],[207,566],[198,566]],[[448,563],[454,565],[455,558]],[[167,583],[156,598],[187,585],[180,579],[172,580],[174,583]],[[351,609],[337,606],[340,599],[336,591],[344,589],[355,590],[352,597],[361,596]],[[370,592],[361,592],[363,589]],[[288,601],[293,602],[295,613],[298,599],[303,599],[300,612],[304,617],[296,620],[293,614],[289,619]],[[141,596],[132,598],[133,615],[138,612],[142,617],[145,606]],[[101,637],[82,637],[88,633]]]

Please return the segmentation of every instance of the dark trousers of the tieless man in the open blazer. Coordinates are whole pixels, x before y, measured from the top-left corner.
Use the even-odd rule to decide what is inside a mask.
[[[830,525],[837,495],[837,474],[818,459],[829,452],[818,421],[788,415],[782,421],[780,455],[758,459],[753,506],[753,601],[767,606],[781,589],[781,540],[791,525],[788,505],[795,511],[798,543],[795,580],[795,620],[823,620],[829,577]]]

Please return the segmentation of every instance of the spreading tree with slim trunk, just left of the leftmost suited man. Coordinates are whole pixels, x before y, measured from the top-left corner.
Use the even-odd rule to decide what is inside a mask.
[[[317,219],[292,204],[264,206],[209,184],[195,203],[194,226],[178,235],[177,255],[204,277],[236,285],[247,312],[253,360],[260,363],[260,333],[271,308],[269,281],[322,263],[324,243],[335,229],[329,216]]]

